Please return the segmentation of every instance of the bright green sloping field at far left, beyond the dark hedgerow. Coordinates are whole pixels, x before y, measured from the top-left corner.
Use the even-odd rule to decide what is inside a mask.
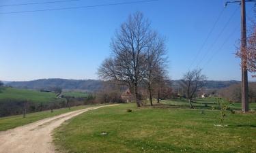
[[[37,90],[27,90],[18,88],[0,88],[0,101],[5,99],[28,100],[33,103],[48,103],[56,101],[56,95],[53,92],[40,92]]]

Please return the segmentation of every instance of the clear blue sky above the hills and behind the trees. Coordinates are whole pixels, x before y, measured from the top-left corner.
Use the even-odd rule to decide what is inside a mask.
[[[46,0],[1,0],[0,5],[41,1]],[[80,0],[0,7],[0,12],[124,1]],[[254,3],[246,5],[250,18],[255,18],[251,10],[253,5]],[[195,60],[199,48],[223,7],[224,0],[160,0],[78,10],[0,14],[0,80],[98,79],[96,71],[111,52],[109,43],[115,29],[119,28],[129,14],[137,11],[143,12],[152,22],[152,28],[167,37],[169,75],[172,79],[182,78],[195,61],[191,68],[200,65],[209,80],[240,80],[240,59],[234,55],[240,38],[240,8],[231,18],[239,7],[238,4],[230,4],[224,10],[212,35]],[[212,45],[229,18],[231,21],[227,28]],[[233,34],[229,37],[232,31]],[[225,41],[227,37],[229,39]],[[226,42],[225,45],[218,50],[223,42]],[[249,77],[249,80],[253,79]]]

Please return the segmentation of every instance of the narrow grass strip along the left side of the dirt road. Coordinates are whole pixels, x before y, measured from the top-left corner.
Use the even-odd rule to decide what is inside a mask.
[[[51,113],[51,110],[36,112],[36,113],[27,114],[26,118],[23,118],[23,115],[3,117],[3,118],[0,118],[0,131],[6,131],[8,129],[13,129],[17,126],[22,126],[25,124],[29,124],[31,122],[35,122],[37,120],[42,120],[44,118],[57,116],[59,114],[63,114],[63,113],[78,110],[78,109],[83,109],[90,106],[92,105],[76,106],[76,107],[71,107],[71,109],[68,109],[68,108],[55,109],[53,113]]]

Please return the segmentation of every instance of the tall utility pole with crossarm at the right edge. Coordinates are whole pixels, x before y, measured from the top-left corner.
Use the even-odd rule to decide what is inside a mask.
[[[227,1],[228,3],[240,3],[241,5],[241,68],[242,68],[242,112],[248,112],[248,72],[246,52],[246,2],[256,0]]]

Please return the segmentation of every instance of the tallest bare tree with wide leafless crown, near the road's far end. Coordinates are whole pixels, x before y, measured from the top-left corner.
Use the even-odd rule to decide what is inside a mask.
[[[115,33],[111,41],[113,54],[102,63],[98,75],[128,85],[140,107],[138,88],[148,73],[147,53],[155,52],[157,44],[163,43],[160,41],[141,12],[130,15]]]

